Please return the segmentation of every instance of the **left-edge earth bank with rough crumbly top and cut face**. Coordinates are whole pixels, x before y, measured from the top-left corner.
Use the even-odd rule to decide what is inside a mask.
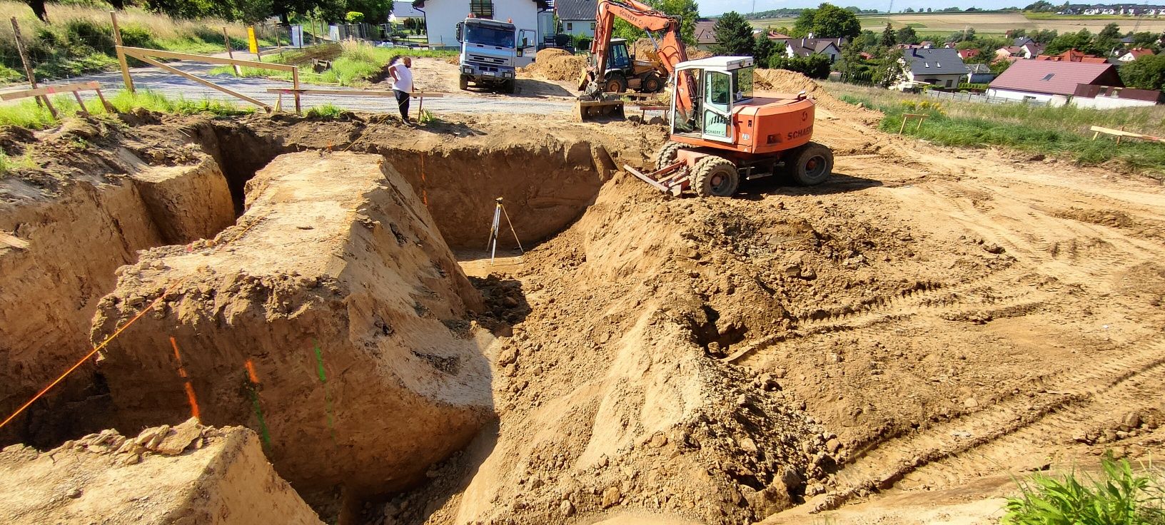
[[[96,148],[78,148],[93,142]],[[35,144],[35,148],[34,148]],[[0,413],[16,410],[91,348],[87,332],[114,270],[137,250],[213,236],[234,221],[218,163],[174,137],[137,140],[100,120],[37,137],[8,128],[6,155],[40,168],[0,177]],[[92,368],[0,431],[0,445],[51,446],[101,427]],[[65,403],[82,403],[76,417]]]

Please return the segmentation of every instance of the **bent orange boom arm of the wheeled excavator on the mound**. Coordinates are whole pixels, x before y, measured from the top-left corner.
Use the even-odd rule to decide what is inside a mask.
[[[637,0],[599,0],[595,13],[594,41],[591,42],[592,65],[584,77],[584,90],[591,99],[601,95],[603,75],[607,71],[607,54],[610,49],[610,36],[615,28],[615,17],[628,21],[631,26],[648,31],[656,45],[659,62],[669,75],[676,72],[676,64],[687,61],[687,51],[679,37],[679,19],[652,8]],[[659,35],[658,40],[652,33]],[[696,80],[691,73],[684,73],[676,80],[676,111],[687,114],[692,107],[692,94],[696,93]]]

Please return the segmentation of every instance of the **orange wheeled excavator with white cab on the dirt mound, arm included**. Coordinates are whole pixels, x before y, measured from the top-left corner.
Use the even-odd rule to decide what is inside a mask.
[[[701,197],[730,197],[741,180],[774,175],[802,185],[829,177],[833,151],[812,142],[816,104],[805,92],[755,97],[753,57],[689,61],[679,19],[637,0],[599,0],[596,12],[579,114],[595,108],[601,114],[603,107],[622,104],[619,93],[602,88],[615,16],[648,31],[672,84],[671,134],[656,157],[656,170],[643,173],[624,166],[628,172],[661,191],[678,196],[691,190]]]

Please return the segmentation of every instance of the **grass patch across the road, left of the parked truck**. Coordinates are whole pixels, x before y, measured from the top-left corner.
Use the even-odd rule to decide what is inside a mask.
[[[308,51],[289,51],[270,59],[281,64],[299,64],[304,62]],[[332,61],[332,69],[315,73],[306,68],[299,70],[299,80],[312,84],[334,84],[340,86],[363,85],[377,80],[389,61],[397,56],[410,57],[450,57],[458,51],[428,51],[405,48],[377,48],[363,42],[344,42]],[[306,61],[311,63],[310,58]],[[211,70],[212,75],[234,75],[234,68],[221,66]],[[242,77],[268,77],[290,79],[287,71],[271,71],[257,68],[242,68]]]

